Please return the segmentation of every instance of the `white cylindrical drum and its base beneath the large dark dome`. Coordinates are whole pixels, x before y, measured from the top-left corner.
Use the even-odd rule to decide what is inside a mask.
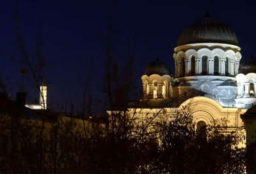
[[[235,76],[242,57],[239,47],[224,43],[195,43],[174,50],[175,82],[182,83],[173,87],[173,96],[195,89],[222,106],[236,106]]]

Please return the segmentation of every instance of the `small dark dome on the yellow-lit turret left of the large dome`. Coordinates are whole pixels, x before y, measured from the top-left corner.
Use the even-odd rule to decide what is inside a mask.
[[[170,75],[170,68],[162,61],[159,61],[159,58],[156,58],[156,61],[150,62],[145,70],[145,75],[150,76],[153,74],[157,75]]]

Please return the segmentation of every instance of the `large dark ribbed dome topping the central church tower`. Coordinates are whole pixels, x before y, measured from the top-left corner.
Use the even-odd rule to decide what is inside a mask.
[[[238,45],[234,31],[224,22],[205,17],[189,24],[180,34],[177,46],[190,43],[227,43]]]

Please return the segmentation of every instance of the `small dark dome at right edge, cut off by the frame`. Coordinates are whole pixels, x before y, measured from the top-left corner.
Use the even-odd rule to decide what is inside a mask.
[[[247,59],[240,64],[238,73],[243,73],[244,75],[248,73],[256,73],[256,59],[251,55],[250,59]]]

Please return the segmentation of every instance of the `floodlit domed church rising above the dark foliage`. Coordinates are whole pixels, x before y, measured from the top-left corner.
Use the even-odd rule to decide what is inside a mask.
[[[240,115],[256,103],[256,60],[240,64],[240,50],[234,31],[209,13],[192,22],[174,48],[175,75],[158,57],[146,67],[137,113],[154,117],[189,105],[197,126],[225,118],[230,130],[242,127]]]

